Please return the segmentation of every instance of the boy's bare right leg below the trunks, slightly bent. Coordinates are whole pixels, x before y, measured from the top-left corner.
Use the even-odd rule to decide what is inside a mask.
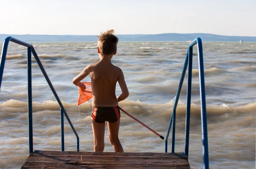
[[[114,148],[114,152],[124,152],[118,138],[120,119],[115,123],[108,123],[109,141]]]

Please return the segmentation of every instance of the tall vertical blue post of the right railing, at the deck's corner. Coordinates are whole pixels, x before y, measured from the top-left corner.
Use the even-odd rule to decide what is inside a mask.
[[[186,104],[186,129],[185,129],[185,150],[189,155],[189,127],[190,127],[190,108],[191,108],[191,89],[192,89],[192,61],[193,47],[189,47],[189,65],[188,65],[188,84],[187,84],[187,104]]]

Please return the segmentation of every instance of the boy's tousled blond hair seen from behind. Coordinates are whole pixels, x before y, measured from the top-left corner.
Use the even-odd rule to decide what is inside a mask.
[[[98,36],[98,45],[100,54],[113,54],[116,52],[118,37],[114,35],[114,30],[107,30],[106,32],[101,32]]]

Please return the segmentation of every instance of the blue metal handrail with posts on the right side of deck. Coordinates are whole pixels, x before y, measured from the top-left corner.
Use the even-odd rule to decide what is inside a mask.
[[[186,131],[185,131],[185,150],[184,154],[189,155],[189,126],[190,126],[190,106],[191,106],[191,86],[192,86],[192,58],[193,58],[193,46],[198,46],[198,66],[199,66],[199,82],[200,82],[200,98],[201,98],[201,126],[202,126],[202,139],[203,139],[203,158],[204,169],[209,169],[209,153],[208,153],[208,135],[207,135],[207,112],[206,112],[206,99],[205,99],[205,85],[204,85],[204,62],[203,62],[203,45],[200,37],[193,40],[188,47],[185,63],[180,77],[180,83],[175,97],[175,103],[170,118],[166,140],[165,140],[165,152],[167,152],[168,137],[172,126],[172,153],[175,149],[175,120],[176,120],[176,108],[180,97],[180,91],[182,88],[183,80],[188,69],[188,85],[187,85],[187,105],[186,105]]]

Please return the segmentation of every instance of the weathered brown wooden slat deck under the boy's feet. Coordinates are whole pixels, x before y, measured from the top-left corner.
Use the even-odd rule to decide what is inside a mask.
[[[35,151],[21,169],[190,169],[183,153]]]

